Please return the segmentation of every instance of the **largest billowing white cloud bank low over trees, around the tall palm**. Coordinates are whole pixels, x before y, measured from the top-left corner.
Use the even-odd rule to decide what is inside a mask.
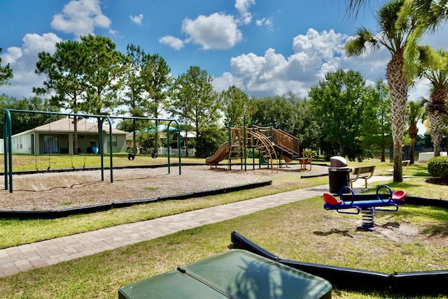
[[[438,38],[430,36],[437,43],[446,43],[444,34]],[[368,55],[347,57],[344,44],[351,38],[335,31],[309,29],[307,34],[293,38],[293,54],[288,57],[269,48],[263,55],[241,54],[230,59],[231,72],[214,78],[217,91],[228,89],[231,85],[239,87],[250,96],[274,96],[293,92],[307,97],[309,89],[325,78],[328,72],[339,68],[358,71],[366,84],[373,85],[384,80],[386,65],[391,54],[380,48]],[[429,38],[423,40],[428,41]],[[436,46],[437,43],[432,43]],[[409,100],[428,96],[428,82],[419,80],[409,89]]]

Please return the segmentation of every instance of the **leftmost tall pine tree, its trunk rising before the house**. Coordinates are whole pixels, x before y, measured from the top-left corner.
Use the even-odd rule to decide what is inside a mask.
[[[43,87],[34,87],[38,95],[50,94],[53,105],[80,112],[80,102],[85,99],[85,61],[88,52],[78,41],[56,44],[54,54],[38,53],[35,73],[46,75]],[[73,154],[78,154],[78,121],[73,119]]]

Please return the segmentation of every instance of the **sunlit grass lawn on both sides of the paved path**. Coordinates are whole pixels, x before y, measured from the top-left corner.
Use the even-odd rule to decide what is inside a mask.
[[[158,158],[159,159],[159,158]],[[155,159],[157,160],[157,159]],[[124,163],[127,163],[124,161]],[[391,163],[377,165],[375,173],[391,175]],[[358,163],[349,163],[357,166]],[[410,196],[447,198],[448,187],[425,182],[425,166],[409,166],[400,183],[385,181]],[[427,175],[427,173],[426,173]],[[139,205],[50,220],[1,220],[4,247],[55,238],[120,223],[152,219],[211,205],[327,184],[328,177],[297,180],[282,176],[277,186],[234,194]],[[381,182],[382,183],[382,182]],[[378,183],[378,184],[381,184]],[[377,184],[377,183],[375,183]],[[162,238],[0,278],[2,298],[117,298],[121,286],[174,270],[231,248],[230,233],[237,231],[281,258],[391,273],[448,269],[448,212],[433,207],[402,205],[398,212],[375,214],[379,225],[404,223],[421,230],[419,238],[394,242],[381,235],[356,231],[359,215],[338,214],[322,208],[321,196],[263,210]],[[12,240],[12,241],[11,241]],[[6,246],[5,246],[5,245]],[[8,245],[9,244],[9,245]],[[358,293],[333,289],[333,298],[396,298],[395,294]],[[437,298],[437,297],[434,297]],[[440,297],[442,298],[442,297]]]

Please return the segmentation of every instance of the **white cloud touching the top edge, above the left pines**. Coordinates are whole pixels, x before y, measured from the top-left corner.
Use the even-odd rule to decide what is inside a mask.
[[[99,0],[71,0],[62,13],[53,16],[51,27],[76,38],[93,34],[95,27],[108,29],[111,20],[103,15]]]

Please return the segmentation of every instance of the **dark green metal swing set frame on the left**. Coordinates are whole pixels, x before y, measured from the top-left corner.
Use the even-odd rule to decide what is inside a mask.
[[[3,113],[3,160],[4,160],[4,180],[5,180],[5,190],[13,193],[13,143],[12,143],[12,121],[11,113],[31,113],[31,114],[45,114],[45,115],[64,115],[68,117],[84,118],[97,118],[99,119],[99,126],[102,126],[104,119],[109,123],[109,165],[110,165],[110,180],[113,182],[113,138],[112,138],[112,120],[111,119],[143,119],[143,120],[156,120],[150,117],[113,117],[109,115],[87,115],[87,114],[74,114],[74,113],[64,113],[64,112],[49,112],[49,111],[32,111],[32,110],[18,110],[18,109],[5,109]],[[177,126],[178,131],[178,146],[181,145],[181,126],[176,119],[157,119],[169,122],[169,126],[174,122]],[[168,136],[169,138],[169,130]],[[103,130],[99,130],[99,152],[101,155],[101,180],[104,181],[104,135]],[[50,156],[48,156],[50,159]],[[170,151],[168,150],[168,173],[170,173]],[[47,171],[50,170],[50,161]],[[181,155],[179,155],[179,175],[181,175]]]

